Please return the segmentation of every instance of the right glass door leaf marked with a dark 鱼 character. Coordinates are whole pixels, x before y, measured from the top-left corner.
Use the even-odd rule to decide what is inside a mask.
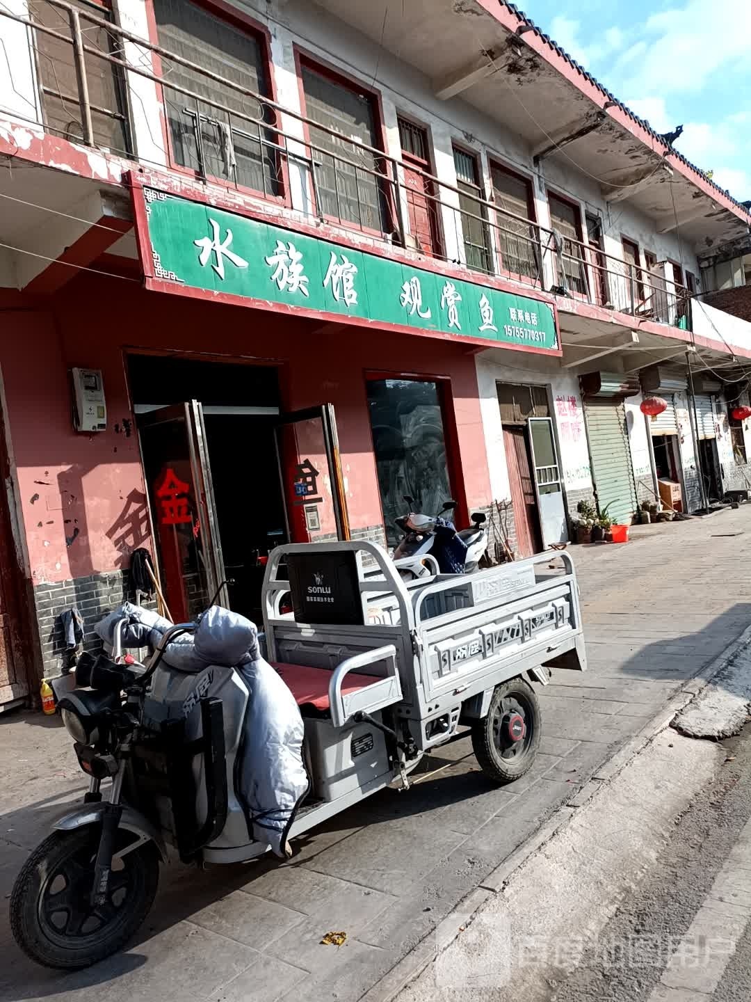
[[[333,405],[282,414],[275,431],[287,538],[296,543],[349,539]]]

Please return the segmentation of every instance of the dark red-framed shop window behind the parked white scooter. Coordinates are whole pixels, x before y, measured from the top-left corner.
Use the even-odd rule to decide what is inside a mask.
[[[451,497],[441,396],[436,383],[372,380],[367,403],[387,540],[396,546],[402,533],[394,520],[409,507],[405,495],[429,515]]]

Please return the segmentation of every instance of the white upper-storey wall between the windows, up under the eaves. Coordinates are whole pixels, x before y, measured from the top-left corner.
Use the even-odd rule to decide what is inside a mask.
[[[25,2],[26,0],[6,0],[5,6],[25,11]],[[399,157],[401,154],[397,124],[399,111],[428,126],[433,143],[435,172],[447,184],[456,184],[452,141],[457,140],[480,152],[487,189],[490,188],[489,155],[508,163],[534,180],[536,214],[541,225],[550,223],[546,200],[546,188],[550,186],[577,201],[582,208],[583,217],[586,210],[602,216],[607,253],[622,259],[621,234],[625,234],[639,243],[642,253],[645,248],[652,250],[658,260],[671,258],[680,261],[683,258],[685,267],[694,274],[699,274],[696,258],[685,247],[681,250],[675,233],[656,233],[655,225],[648,217],[624,202],[608,206],[597,180],[577,171],[563,155],[546,158],[539,168],[536,167],[529,146],[520,136],[482,114],[461,97],[449,101],[439,100],[433,93],[428,77],[407,63],[395,59],[374,41],[357,34],[314,4],[307,0],[235,0],[234,6],[246,11],[268,28],[277,99],[290,110],[299,111],[292,50],[292,45],[297,43],[381,92],[387,151],[393,156]],[[117,0],[117,13],[123,27],[139,37],[148,37],[145,0]],[[39,112],[33,60],[25,29],[0,18],[0,41],[4,42],[12,70],[11,81],[5,59],[0,53],[0,107],[14,117],[37,121]],[[126,43],[124,55],[134,65],[151,68],[151,56],[147,50],[134,43]],[[137,152],[148,163],[164,164],[164,122],[157,100],[157,88],[134,73],[128,74],[128,87],[135,116],[134,141]],[[282,127],[293,136],[302,135],[300,123],[290,116],[282,118]],[[292,141],[290,149],[293,151],[295,148],[302,151],[302,147],[295,147]],[[309,185],[304,167],[293,166],[290,174],[293,206],[309,211]],[[448,189],[442,190],[442,198],[450,204],[457,200]],[[446,208],[443,215],[447,257],[462,260],[464,241],[461,220],[451,208]],[[548,285],[553,278],[551,269],[552,261],[547,260]]]

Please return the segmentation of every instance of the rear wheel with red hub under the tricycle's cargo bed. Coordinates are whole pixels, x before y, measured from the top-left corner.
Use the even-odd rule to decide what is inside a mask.
[[[542,717],[533,687],[523,678],[496,686],[488,709],[472,728],[472,746],[480,768],[498,784],[513,783],[531,769]]]

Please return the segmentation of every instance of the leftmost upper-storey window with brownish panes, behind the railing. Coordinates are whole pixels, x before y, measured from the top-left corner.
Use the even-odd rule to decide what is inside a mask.
[[[103,54],[120,55],[119,39],[106,28],[92,24],[86,14],[111,20],[108,8],[86,0],[69,0],[80,12],[81,32],[85,44]],[[78,142],[85,138],[83,116],[79,103],[78,77],[73,58],[73,32],[68,12],[46,0],[29,3],[29,14],[37,24],[52,28],[62,39],[35,32],[35,52],[44,125],[55,135]],[[121,55],[120,55],[121,58]],[[96,145],[120,153],[131,151],[122,72],[119,67],[89,52],[83,56],[86,83],[91,107],[91,125]]]

